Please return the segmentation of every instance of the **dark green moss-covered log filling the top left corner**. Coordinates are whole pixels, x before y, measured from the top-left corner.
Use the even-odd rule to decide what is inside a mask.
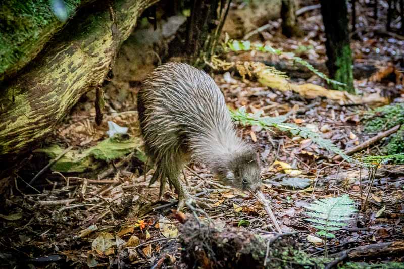
[[[71,17],[82,1],[63,0]],[[24,67],[65,24],[49,0],[3,0],[0,5],[0,81]]]

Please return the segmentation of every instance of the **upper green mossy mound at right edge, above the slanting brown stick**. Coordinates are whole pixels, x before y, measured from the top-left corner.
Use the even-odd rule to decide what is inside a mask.
[[[384,105],[364,115],[365,131],[379,132],[404,124],[404,103]]]

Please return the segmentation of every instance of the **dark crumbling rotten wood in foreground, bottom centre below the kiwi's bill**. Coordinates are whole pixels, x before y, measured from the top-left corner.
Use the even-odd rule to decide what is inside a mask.
[[[292,233],[271,241],[245,229],[214,227],[214,223],[207,225],[198,219],[188,220],[181,227],[179,241],[185,264],[199,268],[304,268],[307,265],[303,264],[305,261],[286,260],[290,258],[289,251],[297,249],[297,243],[290,238]]]

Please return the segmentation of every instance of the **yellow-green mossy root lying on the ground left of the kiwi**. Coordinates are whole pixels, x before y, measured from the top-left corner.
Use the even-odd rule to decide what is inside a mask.
[[[51,169],[59,172],[84,172],[87,170],[95,170],[103,166],[105,162],[118,159],[133,151],[135,152],[135,156],[144,162],[145,155],[139,149],[141,144],[140,138],[132,138],[127,135],[115,135],[82,152],[79,150],[70,150],[60,158]],[[47,148],[37,149],[34,152],[42,152],[51,158],[56,158],[63,151],[64,148],[59,145],[51,145]]]

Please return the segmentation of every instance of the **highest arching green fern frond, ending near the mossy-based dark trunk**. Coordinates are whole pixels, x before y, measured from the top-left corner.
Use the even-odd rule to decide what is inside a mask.
[[[311,64],[309,64],[307,61],[301,59],[300,57],[297,57],[294,55],[293,52],[283,52],[280,49],[275,49],[271,47],[270,45],[262,45],[258,43],[251,44],[250,41],[238,41],[238,40],[229,40],[224,43],[224,51],[249,51],[249,50],[257,50],[261,52],[268,52],[274,55],[279,55],[279,56],[285,56],[287,59],[290,59],[293,61],[295,64],[300,64],[310,71],[312,71],[314,74],[319,76],[320,78],[324,79],[328,84],[333,84],[333,85],[339,85],[339,86],[346,86],[345,83],[341,83],[339,81],[330,79],[327,77],[324,73],[318,71],[315,69]]]

